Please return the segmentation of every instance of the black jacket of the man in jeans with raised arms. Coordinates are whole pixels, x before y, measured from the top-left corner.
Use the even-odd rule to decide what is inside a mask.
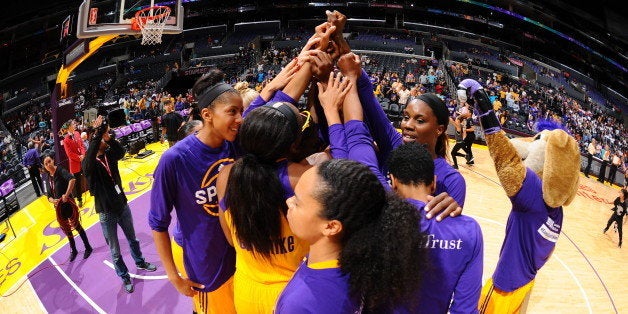
[[[126,151],[114,138],[107,142],[109,148],[105,151],[105,156],[111,170],[111,176],[109,176],[107,168],[97,160],[101,140],[102,130],[97,130],[83,159],[83,172],[89,183],[89,191],[94,196],[96,212],[120,212],[127,204],[127,199],[122,190],[118,160],[124,157]],[[104,161],[104,158],[102,160]],[[118,185],[121,193],[116,192],[115,185]]]

